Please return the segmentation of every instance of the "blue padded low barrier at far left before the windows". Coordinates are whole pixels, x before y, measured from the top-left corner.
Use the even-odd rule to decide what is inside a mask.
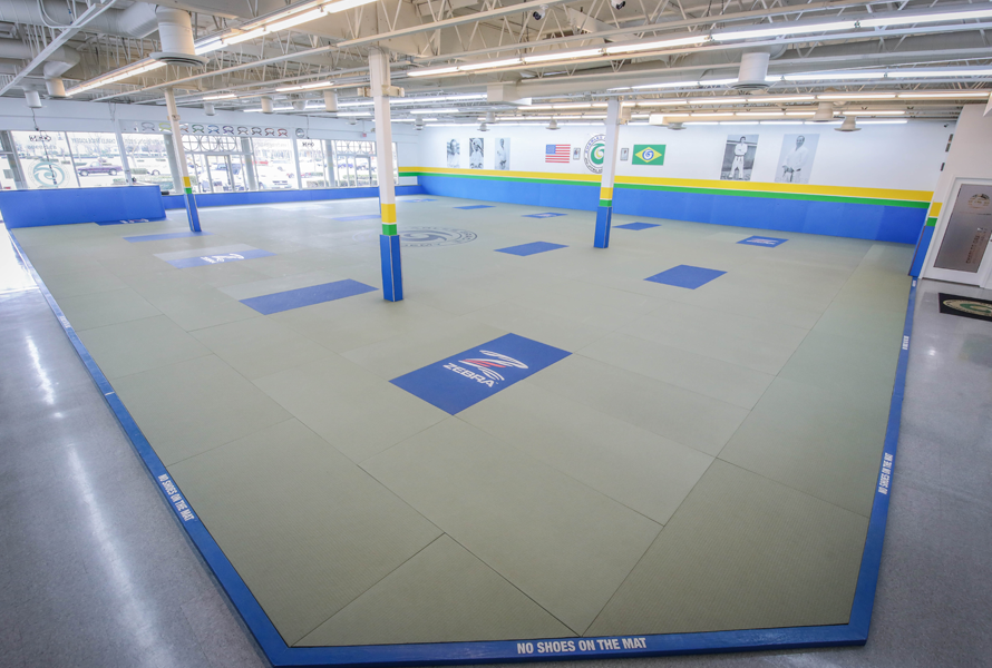
[[[182,208],[182,204],[179,205]],[[158,186],[0,190],[0,214],[8,228],[162,220],[165,208]]]

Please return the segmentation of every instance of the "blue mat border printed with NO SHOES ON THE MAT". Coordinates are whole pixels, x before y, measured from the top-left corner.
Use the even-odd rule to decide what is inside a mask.
[[[885,432],[883,458],[879,460],[878,478],[879,487],[875,490],[875,499],[872,504],[872,514],[868,521],[868,532],[865,539],[865,550],[862,554],[860,569],[858,571],[857,587],[855,589],[854,603],[850,610],[850,620],[846,625],[823,627],[791,627],[779,629],[753,629],[739,631],[716,631],[703,633],[668,633],[653,636],[611,636],[600,638],[548,638],[529,639],[517,642],[516,640],[478,641],[478,642],[438,642],[422,645],[380,645],[380,646],[353,646],[353,647],[288,647],[275,627],[265,615],[255,597],[241,579],[237,571],[227,560],[227,557],[214,541],[206,527],[198,518],[189,513],[184,517],[185,501],[182,492],[171,480],[165,465],[152,449],[137,423],[117,396],[107,377],[97,366],[89,351],[82,345],[75,328],[66,318],[62,310],[51,296],[41,277],[35,271],[17,238],[9,235],[20,261],[31,273],[38,287],[41,289],[48,305],[51,307],[59,323],[76,348],[76,352],[93,376],[94,382],[104,394],[104,399],[120,421],[124,431],[130,439],[135,450],[147,466],[152,478],[158,482],[158,490],[165,497],[167,503],[173,507],[176,520],[187,536],[200,550],[203,559],[213,570],[221,587],[231,598],[245,625],[254,635],[255,640],[269,661],[279,668],[304,666],[428,666],[428,665],[455,665],[455,664],[487,664],[487,662],[521,662],[521,661],[556,661],[567,659],[602,659],[602,658],[631,658],[671,655],[717,654],[757,650],[784,650],[813,647],[838,647],[864,645],[868,638],[872,620],[872,609],[875,605],[875,591],[878,584],[878,572],[882,563],[882,548],[885,539],[885,525],[888,517],[888,489],[892,487],[891,477],[888,489],[882,491],[882,464],[886,455],[891,460],[891,470],[894,472],[894,461],[899,435],[899,419],[902,416],[903,397],[905,394],[906,369],[910,361],[910,335],[913,328],[913,313],[916,298],[916,279],[913,279],[910,288],[906,320],[903,327],[903,345],[899,350],[898,364],[896,366],[895,382],[893,386],[892,402],[889,404],[888,423]],[[173,490],[169,490],[173,485]],[[173,493],[173,492],[178,492]],[[178,497],[178,500],[177,500]],[[554,640],[572,640],[577,646],[578,640],[622,640],[623,638],[643,638],[645,647],[640,649],[594,649],[589,651],[550,651],[546,654],[519,654],[518,647]],[[617,642],[619,644],[619,642]]]

